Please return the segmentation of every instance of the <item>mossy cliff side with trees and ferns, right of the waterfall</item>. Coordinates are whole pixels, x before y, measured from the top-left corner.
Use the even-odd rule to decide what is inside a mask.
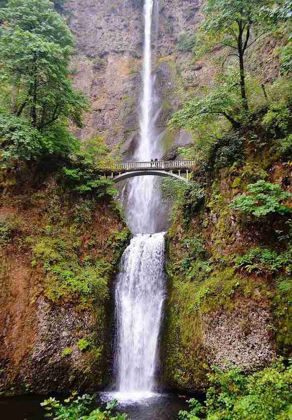
[[[189,191],[172,189],[164,379],[173,387],[204,387],[212,365],[253,371],[292,354],[290,68],[263,84],[247,48],[278,36],[281,62],[289,51],[291,2],[268,6],[206,2],[192,65],[213,54],[218,70],[169,123],[192,133],[179,152],[196,161]]]

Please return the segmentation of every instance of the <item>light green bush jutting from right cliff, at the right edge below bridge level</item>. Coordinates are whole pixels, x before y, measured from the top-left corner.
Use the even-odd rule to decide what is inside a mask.
[[[248,195],[238,195],[230,208],[246,214],[261,218],[271,214],[288,215],[292,209],[282,204],[284,200],[292,197],[292,193],[285,192],[279,184],[271,184],[259,180],[247,186]]]

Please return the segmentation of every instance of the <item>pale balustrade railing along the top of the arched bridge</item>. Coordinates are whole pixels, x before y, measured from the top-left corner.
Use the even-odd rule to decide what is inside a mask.
[[[138,169],[190,169],[195,166],[194,160],[159,160],[157,162],[117,163],[118,171],[135,171]]]

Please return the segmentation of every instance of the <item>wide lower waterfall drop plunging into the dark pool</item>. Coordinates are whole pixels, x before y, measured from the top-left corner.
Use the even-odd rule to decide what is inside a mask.
[[[121,260],[115,292],[116,368],[121,393],[149,392],[155,387],[165,297],[164,235],[135,235]]]

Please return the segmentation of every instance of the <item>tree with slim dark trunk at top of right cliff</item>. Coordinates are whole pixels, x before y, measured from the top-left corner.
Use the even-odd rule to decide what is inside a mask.
[[[211,48],[227,48],[224,62],[230,56],[238,58],[239,85],[245,111],[248,111],[249,107],[244,59],[251,45],[265,34],[266,29],[260,27],[261,9],[272,3],[273,0],[207,0],[203,10],[202,29],[209,37]]]

